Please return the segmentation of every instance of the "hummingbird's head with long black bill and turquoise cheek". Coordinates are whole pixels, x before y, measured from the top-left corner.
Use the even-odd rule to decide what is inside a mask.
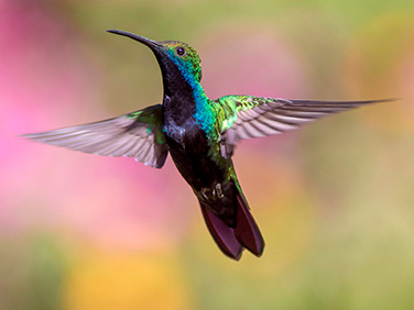
[[[150,47],[159,60],[164,81],[173,80],[176,78],[174,75],[178,73],[189,84],[201,80],[201,60],[197,52],[188,44],[179,41],[153,41],[119,30],[108,30],[108,32],[128,36]]]

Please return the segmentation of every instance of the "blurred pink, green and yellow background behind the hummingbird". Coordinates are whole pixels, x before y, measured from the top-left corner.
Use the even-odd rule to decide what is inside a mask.
[[[412,0],[1,0],[0,309],[414,309]],[[244,141],[266,247],[225,257],[171,158],[157,170],[18,135],[162,100],[179,40],[210,98],[402,100]]]

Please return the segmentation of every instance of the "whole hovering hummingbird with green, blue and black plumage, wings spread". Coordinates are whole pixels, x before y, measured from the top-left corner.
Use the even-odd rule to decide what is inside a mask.
[[[309,101],[226,96],[207,98],[200,58],[188,44],[152,41],[119,31],[146,45],[160,65],[162,104],[118,118],[24,136],[46,144],[103,156],[135,157],[161,168],[170,153],[197,196],[209,232],[227,256],[240,259],[243,248],[261,256],[263,236],[250,213],[231,157],[240,140],[279,134],[325,115],[371,101]]]

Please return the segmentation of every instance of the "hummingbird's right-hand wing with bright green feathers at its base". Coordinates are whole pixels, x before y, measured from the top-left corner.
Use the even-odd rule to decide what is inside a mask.
[[[310,101],[226,96],[214,101],[219,113],[221,155],[232,155],[239,140],[279,134],[352,108],[390,101]]]

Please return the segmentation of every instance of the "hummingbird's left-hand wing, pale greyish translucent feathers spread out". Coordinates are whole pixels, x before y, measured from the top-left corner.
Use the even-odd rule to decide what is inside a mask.
[[[135,157],[161,168],[167,156],[161,104],[118,118],[23,135],[26,139],[103,156]]]

